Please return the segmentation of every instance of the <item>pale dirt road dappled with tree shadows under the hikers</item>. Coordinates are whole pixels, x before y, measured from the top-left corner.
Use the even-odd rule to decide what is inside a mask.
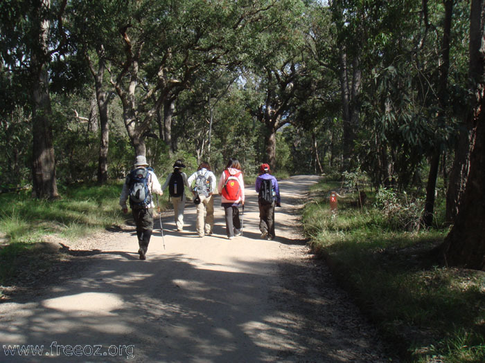
[[[0,362],[387,362],[302,239],[297,210],[316,181],[281,181],[274,241],[259,238],[248,186],[243,236],[232,241],[217,198],[213,236],[197,237],[193,205],[184,232],[166,213],[165,249],[157,223],[146,261],[132,227],[72,243],[93,254],[78,276],[0,304]]]

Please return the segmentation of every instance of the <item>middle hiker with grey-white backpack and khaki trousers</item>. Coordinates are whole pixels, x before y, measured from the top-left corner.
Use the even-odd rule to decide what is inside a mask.
[[[207,162],[201,162],[197,171],[188,178],[188,185],[195,182],[192,193],[195,196],[194,203],[197,208],[197,221],[195,229],[200,237],[208,234],[212,235],[214,227],[214,197],[215,175],[211,171],[211,166]],[[204,223],[205,214],[205,223]]]

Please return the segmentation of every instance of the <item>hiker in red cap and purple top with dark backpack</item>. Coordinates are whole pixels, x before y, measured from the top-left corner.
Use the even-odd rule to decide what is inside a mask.
[[[274,239],[274,207],[281,207],[278,180],[270,174],[270,165],[262,164],[259,167],[259,176],[256,178],[256,192],[259,194],[263,180],[270,180],[272,185],[272,203],[267,204],[258,198],[259,230],[262,239]]]

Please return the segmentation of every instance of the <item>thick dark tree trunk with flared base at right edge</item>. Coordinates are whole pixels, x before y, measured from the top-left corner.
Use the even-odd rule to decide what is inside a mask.
[[[472,95],[466,122],[470,138],[470,171],[455,224],[442,245],[445,262],[485,270],[485,0],[470,7],[470,80]]]

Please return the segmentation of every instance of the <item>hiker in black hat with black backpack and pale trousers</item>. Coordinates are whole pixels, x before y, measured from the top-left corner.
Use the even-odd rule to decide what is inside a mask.
[[[168,174],[164,185],[161,187],[162,190],[165,190],[168,185],[168,193],[172,198],[175,225],[179,232],[184,230],[185,187],[191,187],[187,182],[186,174],[182,171],[184,167],[182,160],[175,161],[173,172]]]

